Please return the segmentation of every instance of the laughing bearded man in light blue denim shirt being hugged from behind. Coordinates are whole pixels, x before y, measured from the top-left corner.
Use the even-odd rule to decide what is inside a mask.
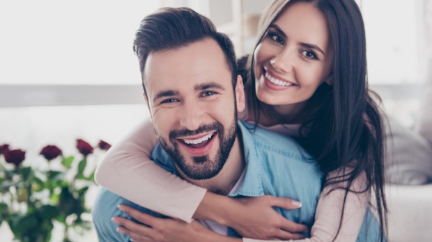
[[[164,8],[141,22],[134,51],[159,141],[152,159],[215,193],[302,201],[300,209],[277,211],[310,228],[321,172],[291,138],[238,122],[245,93],[229,38],[193,10]],[[119,204],[158,216],[102,188],[93,209],[100,241],[130,239],[111,222],[115,216],[132,219],[117,209]],[[233,229],[202,222],[219,234],[238,236]]]

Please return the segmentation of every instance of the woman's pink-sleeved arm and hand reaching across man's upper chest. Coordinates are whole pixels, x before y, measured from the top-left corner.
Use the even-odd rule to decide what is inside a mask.
[[[267,239],[300,238],[307,227],[293,223],[273,207],[298,209],[288,198],[256,197],[234,200],[180,179],[149,158],[157,143],[153,124],[145,122],[111,147],[98,166],[95,180],[126,199],[164,215],[190,222],[192,216],[233,227],[243,236]],[[253,212],[252,212],[253,211]],[[287,237],[288,236],[288,237]]]

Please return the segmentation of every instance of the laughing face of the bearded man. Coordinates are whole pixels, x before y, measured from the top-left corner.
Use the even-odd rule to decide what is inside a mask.
[[[213,39],[157,52],[146,61],[144,83],[157,138],[190,179],[215,177],[236,139],[231,76]],[[238,86],[236,93],[244,97],[241,81]]]

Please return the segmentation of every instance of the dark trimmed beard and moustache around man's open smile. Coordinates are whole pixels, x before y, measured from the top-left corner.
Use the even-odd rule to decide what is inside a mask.
[[[185,157],[180,153],[177,138],[182,136],[194,136],[214,130],[217,131],[217,135],[219,136],[219,149],[217,150],[215,157],[212,159],[209,155],[192,156],[190,157],[192,162],[188,163],[185,160]],[[236,135],[237,113],[227,130],[224,129],[220,122],[213,122],[210,124],[204,124],[194,131],[190,131],[189,129],[171,131],[169,133],[169,143],[171,145],[169,145],[167,140],[159,134],[157,134],[157,140],[159,140],[162,148],[169,154],[169,156],[171,156],[171,159],[173,159],[177,168],[180,169],[186,177],[194,180],[203,180],[215,177],[219,174],[222,168],[224,168],[226,159],[228,159],[231,148],[236,140]]]

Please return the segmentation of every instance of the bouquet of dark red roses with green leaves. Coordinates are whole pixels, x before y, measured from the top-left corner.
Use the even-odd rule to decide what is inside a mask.
[[[102,140],[98,144],[100,150],[109,147]],[[77,150],[79,159],[64,156],[55,145],[43,147],[40,155],[48,168],[40,170],[23,163],[23,150],[0,146],[0,225],[8,223],[15,240],[50,241],[54,221],[64,227],[63,241],[70,241],[71,228],[80,234],[91,228],[91,222],[82,215],[89,213],[84,202],[89,186],[94,184],[95,168],[87,166],[87,159],[94,148],[78,139]],[[59,163],[58,168],[52,168],[53,163]]]

